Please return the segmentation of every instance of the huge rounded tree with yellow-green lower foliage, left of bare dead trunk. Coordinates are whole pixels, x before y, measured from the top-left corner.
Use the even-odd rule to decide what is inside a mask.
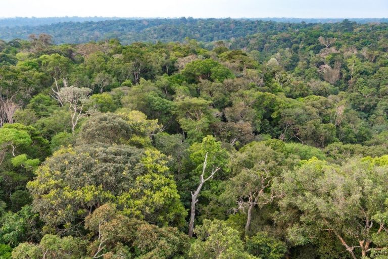
[[[180,226],[185,211],[166,164],[166,156],[156,150],[66,147],[47,158],[28,188],[34,210],[49,227],[79,226],[106,202],[118,202],[124,213],[155,224]]]

